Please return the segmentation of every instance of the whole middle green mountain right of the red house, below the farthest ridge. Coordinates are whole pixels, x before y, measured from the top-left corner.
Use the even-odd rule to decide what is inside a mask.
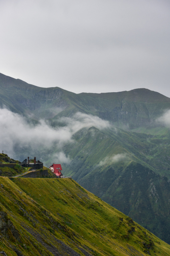
[[[64,147],[73,160],[62,165],[63,174],[170,243],[169,133],[92,127],[77,132],[74,140]],[[112,161],[117,155],[125,157]]]

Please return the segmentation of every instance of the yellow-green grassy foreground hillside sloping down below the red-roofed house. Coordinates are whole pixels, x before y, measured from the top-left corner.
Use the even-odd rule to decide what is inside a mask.
[[[0,195],[0,250],[8,256],[170,254],[170,245],[74,180],[0,177]]]

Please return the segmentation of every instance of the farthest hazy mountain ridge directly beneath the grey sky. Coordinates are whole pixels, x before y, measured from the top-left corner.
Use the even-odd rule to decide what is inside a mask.
[[[37,87],[0,74],[0,105],[24,115],[32,113],[35,118],[55,116],[53,123],[58,116],[71,116],[80,111],[133,129],[150,125],[164,109],[170,109],[170,99],[147,89],[76,94],[59,87]]]

